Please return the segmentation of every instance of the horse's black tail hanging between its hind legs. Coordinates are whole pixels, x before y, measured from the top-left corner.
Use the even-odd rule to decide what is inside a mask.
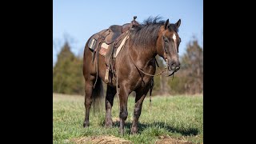
[[[103,94],[102,79],[99,77],[95,84],[92,98],[93,98],[92,106],[93,106],[94,113],[101,111],[103,108],[104,94]]]

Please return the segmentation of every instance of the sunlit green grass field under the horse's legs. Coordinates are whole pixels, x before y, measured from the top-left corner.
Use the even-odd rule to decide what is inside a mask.
[[[174,138],[192,143],[202,143],[203,117],[202,95],[152,97],[147,96],[139,118],[138,134],[130,134],[134,111],[134,97],[128,101],[126,134],[123,139],[132,143],[156,143],[162,138]],[[100,114],[90,113],[90,126],[83,128],[85,108],[84,97],[53,94],[53,142],[74,143],[75,138],[92,136],[119,137],[118,99],[114,99],[113,128],[104,127],[105,110]],[[160,142],[161,143],[161,142]]]

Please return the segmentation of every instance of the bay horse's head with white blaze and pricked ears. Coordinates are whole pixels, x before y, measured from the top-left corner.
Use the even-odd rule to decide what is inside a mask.
[[[181,42],[181,38],[178,36],[178,27],[180,25],[180,19],[175,24],[170,24],[169,19],[167,19],[158,32],[157,53],[165,59],[169,76],[180,68],[178,61],[178,46]]]

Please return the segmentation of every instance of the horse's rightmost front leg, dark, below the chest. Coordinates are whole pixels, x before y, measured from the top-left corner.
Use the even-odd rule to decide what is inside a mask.
[[[136,134],[138,131],[138,118],[142,112],[142,103],[146,97],[147,92],[150,90],[150,86],[147,86],[144,90],[136,91],[135,106],[134,106],[134,120],[130,130],[131,134]]]

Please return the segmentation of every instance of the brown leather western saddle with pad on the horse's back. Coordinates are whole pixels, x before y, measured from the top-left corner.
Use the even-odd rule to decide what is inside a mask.
[[[129,34],[128,30],[134,30],[135,26],[139,26],[139,23],[135,21],[136,18],[137,17],[134,16],[133,21],[131,21],[130,23],[126,23],[122,26],[112,25],[108,29],[102,30],[97,34],[94,34],[94,36],[90,38],[89,47],[90,49],[94,50],[93,58],[95,57],[95,54],[98,56],[103,42],[106,42],[106,44],[109,45],[105,55],[105,63],[107,66],[106,76],[105,76],[106,82],[110,82],[109,81],[110,71],[112,72],[111,77],[113,78],[114,50],[116,50],[117,47],[120,46],[120,44],[122,43],[122,40],[126,38],[126,36]],[[92,42],[93,39],[95,40],[94,41],[95,43]],[[97,58],[97,61],[98,61],[98,58]]]

